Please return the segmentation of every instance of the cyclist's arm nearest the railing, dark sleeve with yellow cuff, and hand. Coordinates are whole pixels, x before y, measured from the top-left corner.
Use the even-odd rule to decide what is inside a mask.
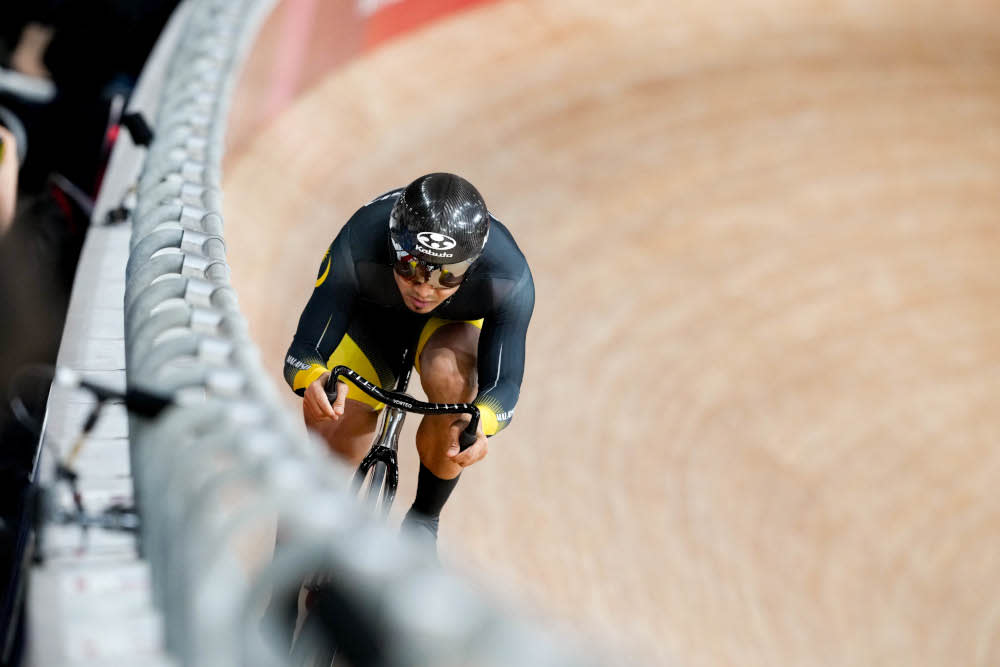
[[[310,410],[317,418],[337,416],[323,391],[323,381],[329,374],[327,360],[347,331],[357,298],[358,282],[345,226],[320,262],[312,296],[285,355],[285,381],[305,399],[307,416]]]

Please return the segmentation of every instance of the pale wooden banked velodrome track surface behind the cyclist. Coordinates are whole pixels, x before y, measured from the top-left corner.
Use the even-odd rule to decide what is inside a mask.
[[[537,304],[445,559],[656,664],[1000,664],[998,30],[507,0],[389,42],[227,159],[265,365],[357,206],[464,174]]]

